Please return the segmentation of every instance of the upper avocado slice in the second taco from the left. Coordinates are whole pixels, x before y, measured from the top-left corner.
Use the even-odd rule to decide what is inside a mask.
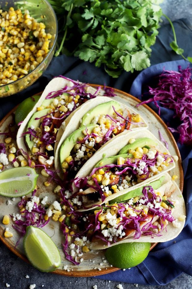
[[[120,104],[117,101],[115,101],[115,100],[111,100],[109,102],[101,103],[101,104],[97,105],[96,107],[94,107],[93,109],[90,109],[82,117],[82,122],[81,122],[81,126],[80,127],[83,127],[83,126],[88,125],[89,123],[91,123],[92,120],[94,119],[94,117],[96,117],[99,114],[109,114],[110,116],[112,116],[113,113],[114,113],[113,106],[115,107],[115,110],[121,109]]]

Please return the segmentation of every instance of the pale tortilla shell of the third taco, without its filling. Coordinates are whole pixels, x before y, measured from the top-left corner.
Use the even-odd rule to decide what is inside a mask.
[[[137,138],[142,138],[142,137],[149,137],[152,140],[154,140],[157,145],[155,146],[155,149],[158,149],[161,153],[169,153],[168,149],[166,149],[166,147],[147,129],[140,129],[137,131],[124,131],[122,133],[120,133],[118,136],[115,136],[114,138],[112,138],[111,140],[109,140],[106,144],[103,145],[102,148],[100,148],[94,155],[92,158],[90,158],[85,165],[83,165],[83,167],[79,170],[79,172],[77,173],[77,175],[75,176],[75,178],[85,178],[87,176],[89,176],[89,174],[91,173],[91,171],[93,170],[93,168],[95,167],[95,165],[102,160],[103,158],[109,158],[111,156],[115,156],[118,155],[118,152],[120,151],[120,149],[122,149],[126,144],[129,143],[129,140],[131,138],[134,138],[137,140]],[[140,187],[141,185],[144,185],[146,183],[149,183],[151,181],[154,181],[156,179],[159,179],[165,172],[168,172],[170,170],[172,170],[175,167],[175,162],[173,161],[172,163],[169,164],[169,166],[167,167],[167,169],[162,170],[161,172],[159,172],[159,174],[152,176],[151,178],[144,180],[142,183],[139,183],[137,185],[134,185],[132,187],[123,189],[121,191],[119,191],[118,193],[112,194],[111,196],[105,198],[105,200],[102,201],[98,201],[95,202],[94,205],[102,205],[120,195],[123,195],[125,193],[128,193],[130,191],[132,191],[133,189],[136,189],[138,187]],[[75,186],[75,184],[72,184],[72,188],[73,188],[73,192],[77,192],[78,188]],[[85,206],[85,205],[84,205]],[[87,206],[87,208],[89,208],[90,206],[93,206],[93,204],[90,204],[89,206]]]

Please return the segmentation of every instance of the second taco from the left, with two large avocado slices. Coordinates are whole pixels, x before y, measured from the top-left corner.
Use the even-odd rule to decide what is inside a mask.
[[[132,108],[108,97],[89,100],[70,118],[55,152],[55,168],[62,169],[64,179],[74,178],[109,140],[142,127],[147,127],[146,122]]]

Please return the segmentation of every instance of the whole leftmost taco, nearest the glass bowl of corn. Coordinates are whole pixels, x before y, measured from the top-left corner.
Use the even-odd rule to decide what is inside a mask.
[[[70,120],[67,117],[72,116],[84,102],[105,94],[101,87],[95,89],[63,76],[52,79],[20,124],[17,145],[24,157],[28,158],[27,152],[30,151],[30,158],[38,158],[39,163],[46,167],[52,166],[54,146],[59,138],[56,140],[57,133],[61,127],[59,134],[62,135],[63,127]],[[114,96],[110,91],[106,95]]]

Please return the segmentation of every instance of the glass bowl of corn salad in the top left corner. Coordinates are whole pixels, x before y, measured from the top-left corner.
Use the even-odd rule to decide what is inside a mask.
[[[27,88],[45,71],[56,47],[57,19],[46,0],[16,1],[15,6],[2,2],[0,97],[5,97]]]

